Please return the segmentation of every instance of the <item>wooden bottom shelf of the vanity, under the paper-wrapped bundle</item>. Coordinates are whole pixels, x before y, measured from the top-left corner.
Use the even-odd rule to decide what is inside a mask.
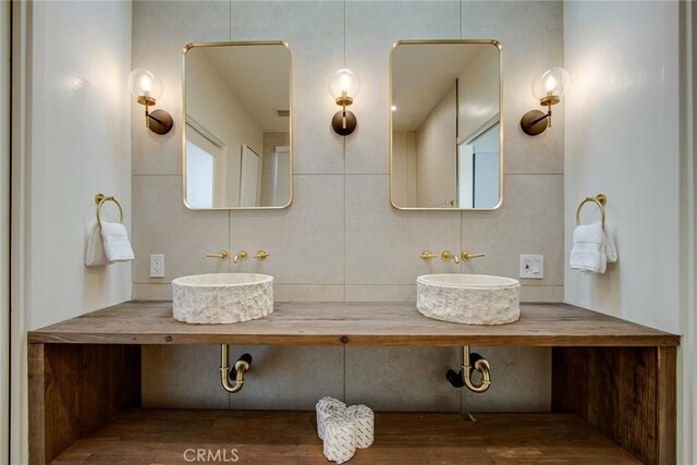
[[[376,440],[351,464],[637,464],[574,415],[378,413]],[[192,462],[195,452],[220,461]],[[236,449],[233,454],[232,450]],[[223,451],[224,455],[223,455]],[[327,464],[313,412],[133,409],[54,464]],[[227,461],[227,462],[224,462]]]

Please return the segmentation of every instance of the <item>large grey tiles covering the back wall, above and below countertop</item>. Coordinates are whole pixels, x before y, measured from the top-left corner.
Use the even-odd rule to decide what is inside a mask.
[[[342,21],[344,20],[344,21]],[[343,23],[345,22],[345,34]],[[503,44],[504,204],[492,212],[399,211],[390,206],[388,60],[399,39],[493,38]],[[278,211],[191,211],[182,203],[181,60],[193,41],[282,39],[293,53],[294,201]],[[345,51],[345,56],[344,56]],[[327,91],[345,65],[362,79],[352,110],[359,126],[332,133]],[[428,272],[516,277],[518,255],[546,259],[543,280],[525,282],[524,301],[563,297],[563,109],[552,131],[528,137],[521,115],[536,108],[535,75],[563,64],[561,2],[239,2],[137,1],[133,68],[164,82],[158,106],[175,119],[157,136],[134,106],[134,298],[169,298],[183,274],[258,271],[276,279],[277,301],[414,301]],[[136,118],[137,114],[137,118]],[[242,264],[206,253],[264,248]],[[468,249],[485,258],[423,261],[423,249]],[[166,279],[150,279],[148,257],[166,255]],[[468,411],[549,407],[546,348],[481,348],[494,384],[486,394],[452,388],[456,348],[236,347],[254,357],[248,386],[218,386],[217,347],[144,350],[147,405],[309,408],[321,395],[378,409]],[[175,369],[173,369],[175,367]]]

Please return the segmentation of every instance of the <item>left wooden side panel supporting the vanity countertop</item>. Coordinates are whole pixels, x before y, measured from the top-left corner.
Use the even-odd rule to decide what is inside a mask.
[[[140,405],[137,345],[29,344],[29,463],[45,464]]]

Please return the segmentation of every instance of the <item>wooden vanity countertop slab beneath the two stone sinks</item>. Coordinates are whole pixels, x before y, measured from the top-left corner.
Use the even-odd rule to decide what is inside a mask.
[[[270,316],[187,325],[171,302],[127,302],[30,331],[29,343],[382,346],[675,346],[680,336],[565,304],[523,304],[521,319],[468,326],[424,317],[406,303],[277,303]]]

